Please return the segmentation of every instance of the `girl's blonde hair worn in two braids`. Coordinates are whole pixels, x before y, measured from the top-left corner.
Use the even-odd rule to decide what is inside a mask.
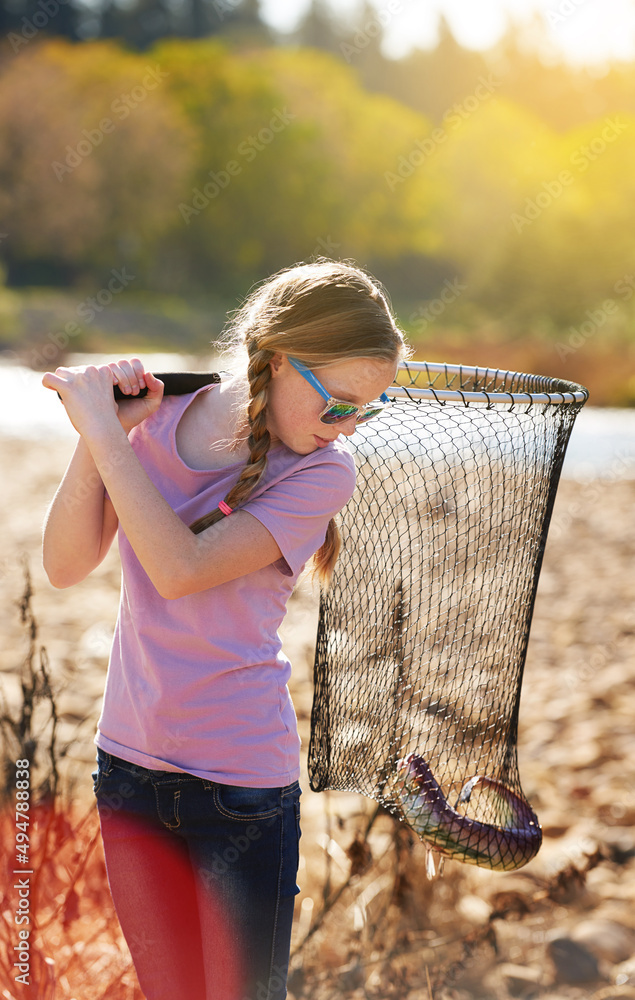
[[[246,502],[267,464],[267,394],[274,354],[290,354],[309,368],[352,359],[396,362],[410,355],[382,286],[360,267],[326,258],[285,268],[257,286],[234,314],[225,339],[234,369],[241,361],[244,367],[246,360],[248,386],[244,403],[249,459],[225,497],[232,510]],[[216,509],[190,527],[198,534],[224,516]],[[313,561],[323,585],[330,579],[340,544],[331,520]]]

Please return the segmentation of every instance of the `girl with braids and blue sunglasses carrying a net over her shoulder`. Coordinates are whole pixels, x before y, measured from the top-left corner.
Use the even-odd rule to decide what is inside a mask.
[[[83,580],[119,529],[93,777],[147,1000],[286,996],[300,769],[278,629],[308,560],[326,581],[337,558],[340,436],[407,355],[380,287],[325,260],[257,288],[233,342],[246,371],[234,352],[235,377],[186,396],[138,359],[43,378],[80,435],[44,528],[51,583]]]

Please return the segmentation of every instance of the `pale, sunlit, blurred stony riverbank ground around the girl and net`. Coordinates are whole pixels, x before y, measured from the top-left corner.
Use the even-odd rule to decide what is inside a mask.
[[[9,708],[15,709],[27,649],[16,603],[26,556],[39,642],[46,647],[57,691],[59,742],[68,744],[65,778],[75,799],[89,803],[92,739],[117,610],[119,565],[113,549],[89,579],[67,591],[54,590],[42,570],[42,520],[72,447],[69,441],[0,438],[0,686]],[[634,506],[634,481],[560,485],[533,620],[519,738],[523,786],[543,825],[540,854],[518,874],[450,864],[446,873],[448,868],[451,872],[441,880],[446,887],[435,891],[439,899],[444,892],[452,896],[454,911],[447,916],[446,906],[447,921],[478,929],[491,917],[501,892],[511,893],[509,899],[514,893],[531,896],[535,906],[539,887],[558,872],[571,865],[584,867],[597,848],[604,860],[589,871],[584,887],[569,891],[565,885],[561,901],[551,899],[539,925],[535,920],[499,921],[498,955],[464,962],[448,996],[635,997]],[[284,639],[294,663],[292,694],[305,748],[316,617],[315,595],[304,586],[292,599]],[[345,856],[338,844],[346,848],[373,810],[362,797],[311,793],[306,773],[303,786],[296,940],[308,927],[310,897],[319,879],[327,871],[336,881],[342,877]],[[374,853],[385,837],[381,823],[377,836]],[[354,898],[346,905],[353,906]],[[332,928],[347,926],[349,912],[342,910]],[[554,949],[554,938],[573,941],[581,950],[564,954],[564,948],[563,958],[562,947]],[[316,935],[315,961],[322,967],[339,963],[348,968],[349,945],[339,931]],[[589,955],[598,964],[585,979],[584,956]],[[576,979],[576,969],[582,970],[582,978]],[[332,995],[382,996],[381,991],[368,994],[354,987],[353,976],[350,989],[342,980],[339,994]],[[317,988],[312,993],[297,988],[297,995],[327,995]],[[384,995],[424,1000],[432,994],[408,992],[404,986],[402,993]],[[441,995],[446,994],[435,992],[435,1000]]]

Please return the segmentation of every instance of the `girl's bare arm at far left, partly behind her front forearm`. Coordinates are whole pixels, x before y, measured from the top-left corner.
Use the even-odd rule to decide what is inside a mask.
[[[115,522],[104,537],[104,483],[82,438],[48,508],[42,560],[56,587],[79,583],[103,559]]]

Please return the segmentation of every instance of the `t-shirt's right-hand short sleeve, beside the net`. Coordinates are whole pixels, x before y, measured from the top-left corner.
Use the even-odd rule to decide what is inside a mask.
[[[331,518],[355,489],[355,462],[350,452],[313,452],[316,458],[295,469],[260,496],[248,500],[248,511],[273,535],[287,563],[287,576],[297,576],[320,548]]]

